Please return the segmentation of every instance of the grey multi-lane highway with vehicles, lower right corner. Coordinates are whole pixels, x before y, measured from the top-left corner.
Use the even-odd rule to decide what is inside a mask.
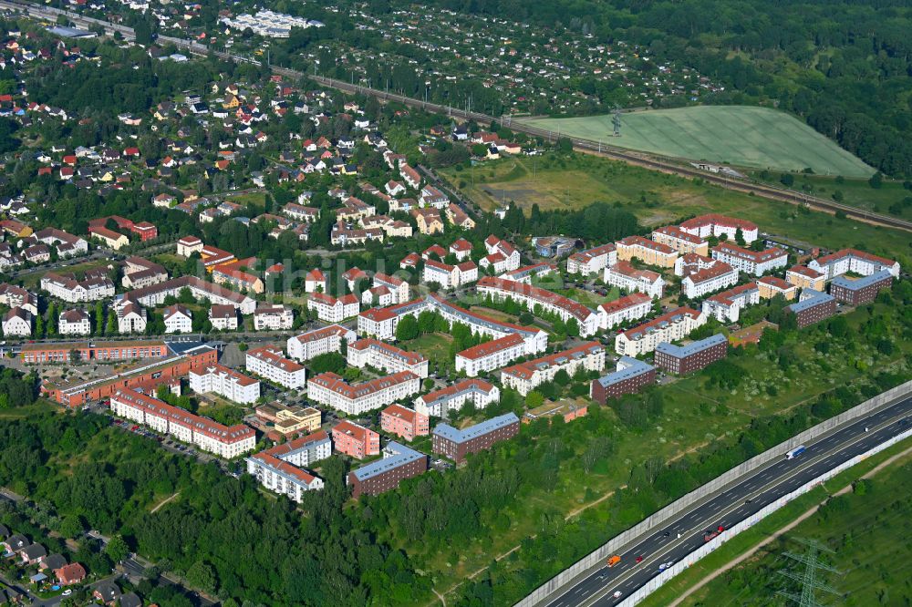
[[[602,607],[623,602],[659,574],[659,565],[678,562],[704,544],[703,534],[719,526],[729,529],[825,471],[906,431],[912,424],[912,397],[840,427],[815,442],[798,458],[777,458],[731,483],[723,492],[685,510],[660,529],[650,531],[618,550],[621,561],[588,571],[548,607]],[[865,429],[866,428],[866,429]],[[639,563],[637,557],[643,557]],[[620,596],[614,597],[615,592]]]

